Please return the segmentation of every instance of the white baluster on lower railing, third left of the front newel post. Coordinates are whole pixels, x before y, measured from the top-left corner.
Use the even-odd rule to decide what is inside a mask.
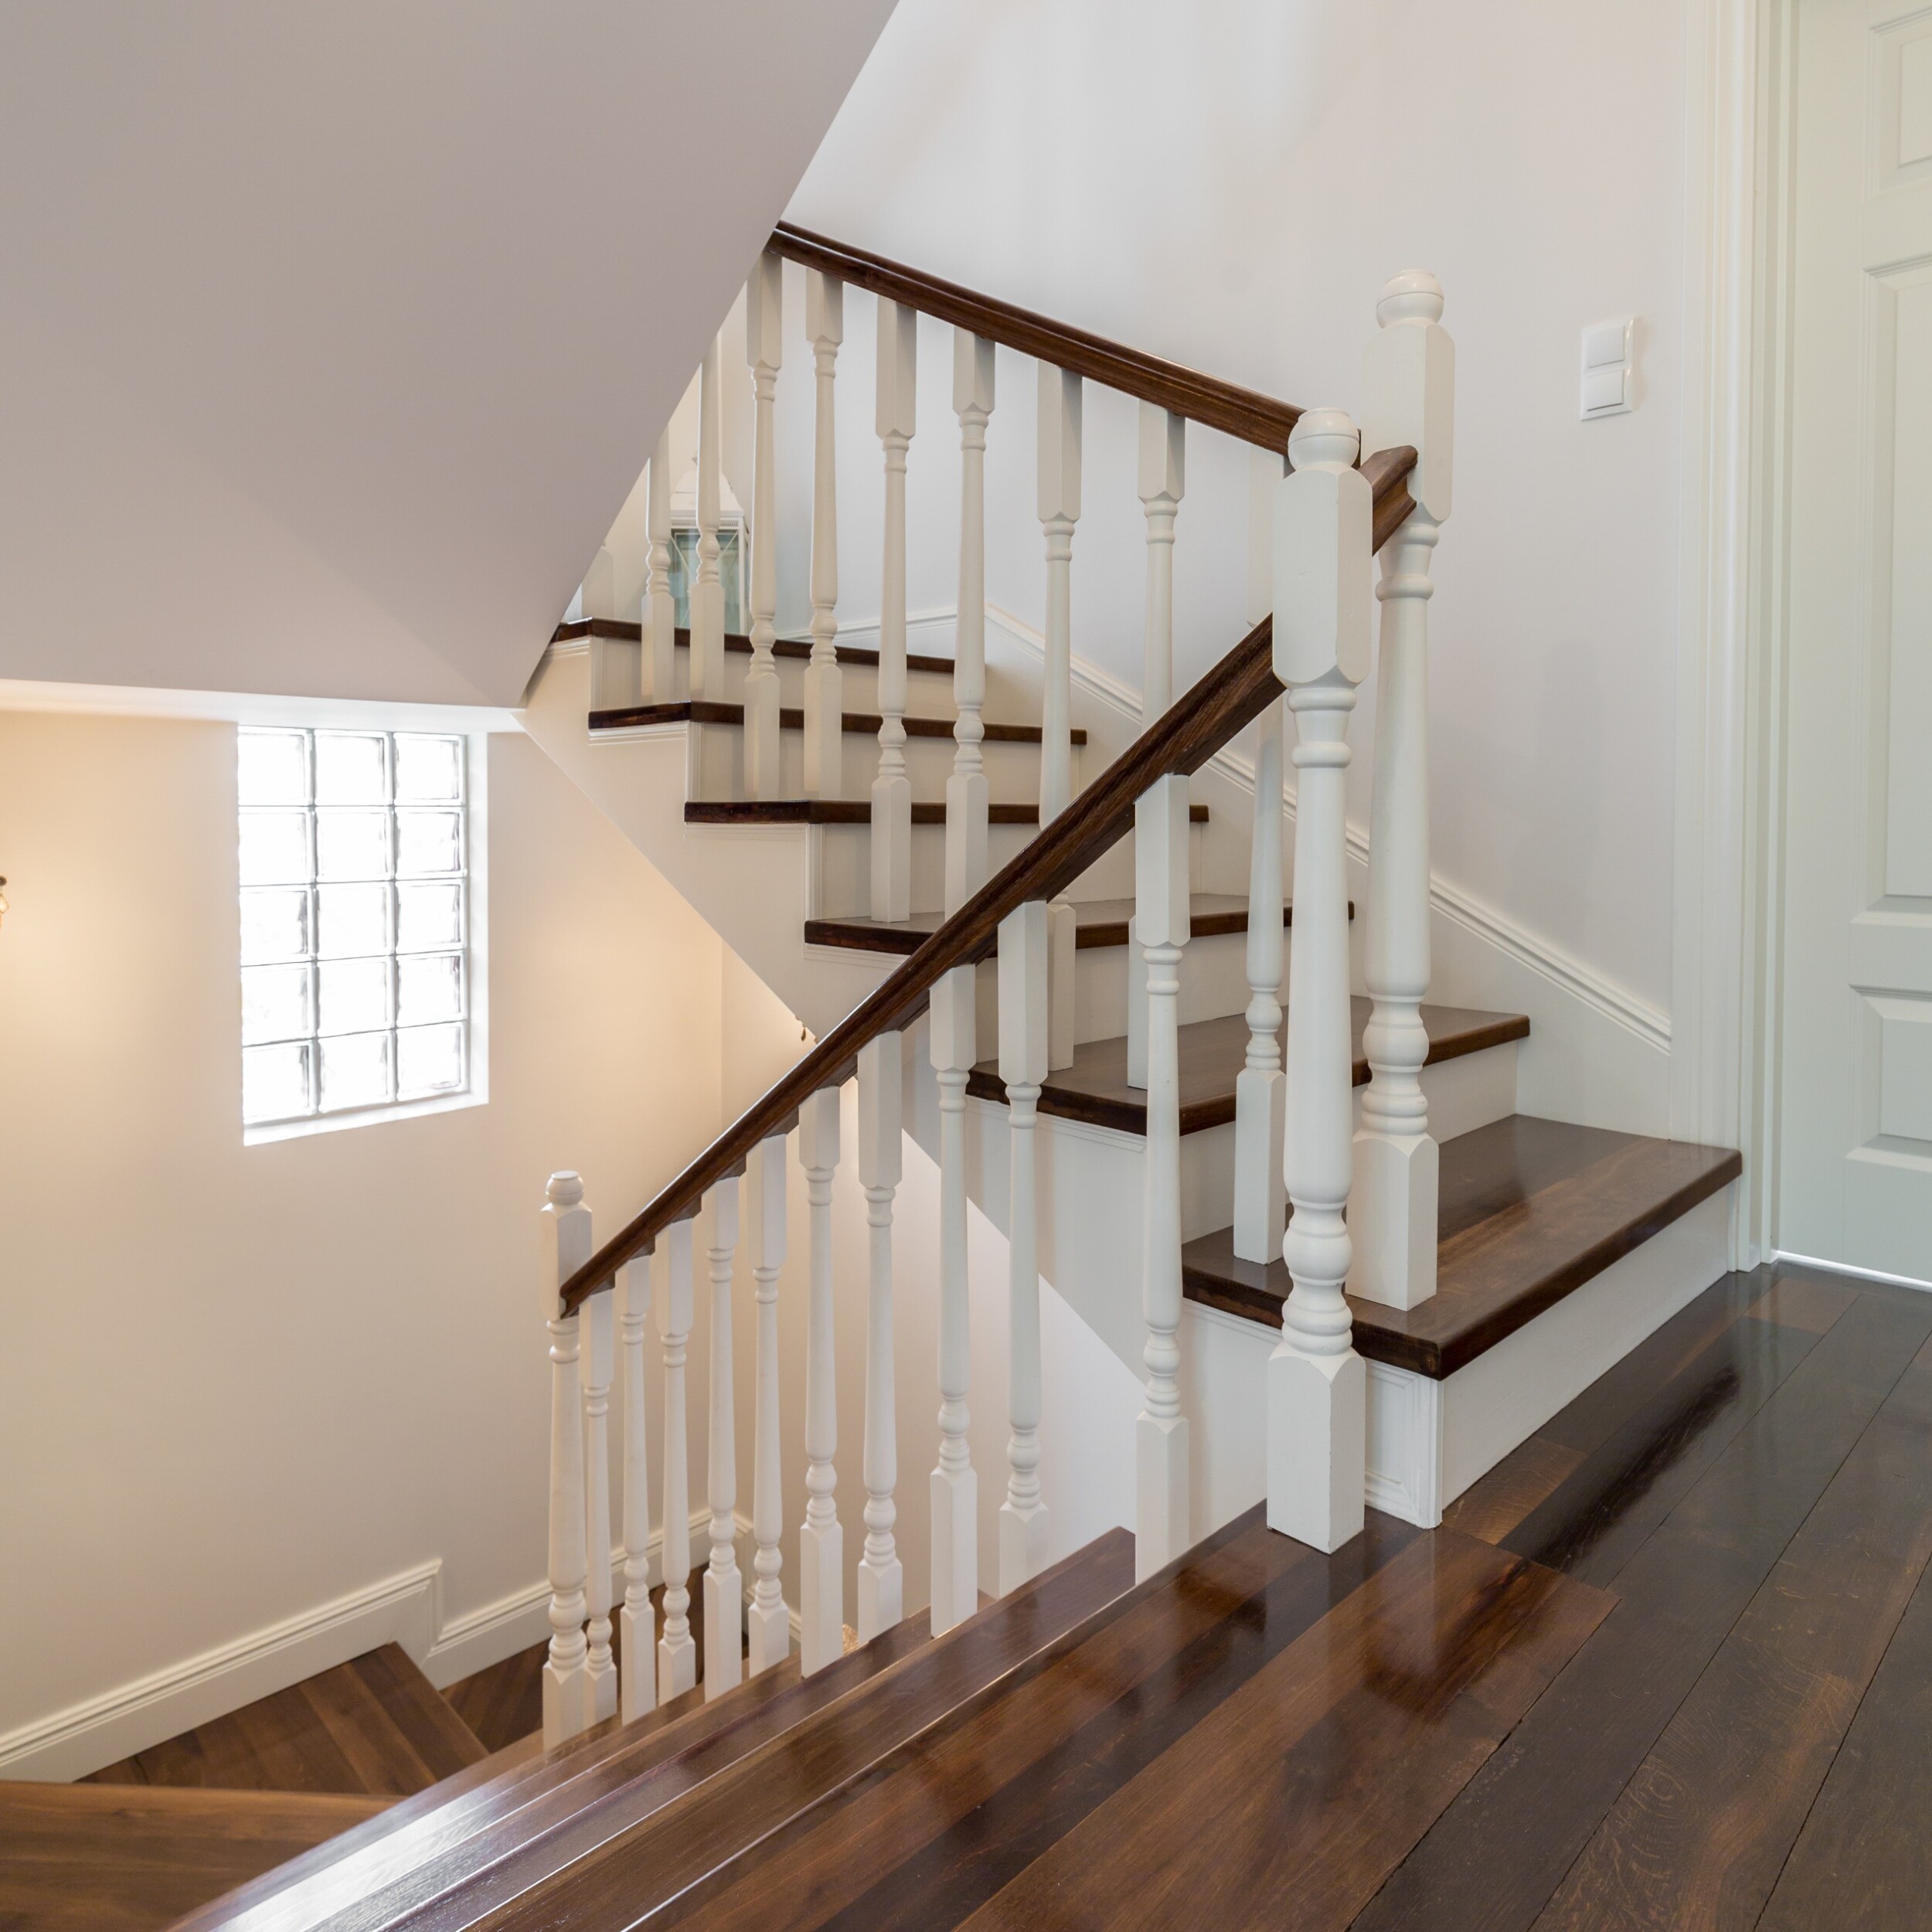
[[[939,1082],[939,1463],[931,1484],[933,1636],[980,1607],[980,1486],[966,1441],[972,1329],[966,1287],[966,1080],[976,1053],[974,968],[933,987]]]

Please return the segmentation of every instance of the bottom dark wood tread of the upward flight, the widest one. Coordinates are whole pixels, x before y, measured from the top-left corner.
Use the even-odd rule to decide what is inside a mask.
[[[1428,1009],[1424,1009],[1428,1010]],[[1441,1379],[1743,1173],[1731,1148],[1511,1115],[1441,1144],[1435,1293],[1420,1308],[1349,1298],[1372,1362]],[[1233,1229],[1180,1250],[1188,1300],[1281,1327],[1287,1265],[1242,1262]]]

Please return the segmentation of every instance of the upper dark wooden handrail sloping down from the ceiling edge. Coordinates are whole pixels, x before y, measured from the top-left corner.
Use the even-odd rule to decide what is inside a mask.
[[[1140,350],[1122,348],[1119,342],[1090,334],[1086,328],[1055,323],[1045,315],[1034,315],[1032,309],[1016,309],[1010,301],[978,296],[970,288],[960,288],[958,282],[943,282],[937,274],[908,269],[883,255],[869,255],[844,242],[808,234],[804,228],[792,228],[790,222],[779,222],[771,232],[771,249],[786,261],[802,263],[806,269],[823,269],[854,288],[871,290],[875,296],[885,296],[887,301],[902,301],[922,315],[970,328],[976,336],[985,336],[1003,348],[1020,350],[1022,355],[1037,355],[1041,361],[1053,363],[1055,369],[1090,377],[1107,388],[1173,410],[1175,415],[1206,423],[1209,429],[1238,437],[1242,442],[1254,442],[1277,456],[1287,454],[1289,433],[1302,413],[1293,402],[1277,402],[1252,388],[1219,383],[1184,363],[1144,355]]]

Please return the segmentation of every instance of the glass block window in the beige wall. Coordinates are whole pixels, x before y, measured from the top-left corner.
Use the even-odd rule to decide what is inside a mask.
[[[464,740],[238,734],[242,1121],[469,1084]]]

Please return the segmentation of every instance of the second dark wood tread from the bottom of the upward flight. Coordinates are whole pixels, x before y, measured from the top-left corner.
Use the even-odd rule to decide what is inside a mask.
[[[1368,1086],[1362,1057],[1362,1030],[1370,1003],[1350,1001],[1354,1020],[1354,1084]],[[1283,1022],[1287,1024],[1287,1022]],[[1430,1065],[1464,1053],[1482,1053],[1511,1039],[1528,1039],[1530,1022],[1520,1012],[1484,1012],[1476,1007],[1424,1007],[1422,1024],[1430,1036]],[[1248,1061],[1248,1020],[1231,1012],[1219,1020],[1190,1020],[1180,1028],[1180,1132],[1200,1134],[1235,1119],[1235,1078]],[[999,1061],[981,1061],[966,1082],[980,1099],[1005,1101]],[[1148,1095],[1126,1084],[1126,1036],[1090,1039],[1074,1047],[1072,1066],[1047,1074],[1039,1090],[1039,1111],[1057,1113],[1090,1126],[1113,1126],[1122,1134],[1146,1134]]]

